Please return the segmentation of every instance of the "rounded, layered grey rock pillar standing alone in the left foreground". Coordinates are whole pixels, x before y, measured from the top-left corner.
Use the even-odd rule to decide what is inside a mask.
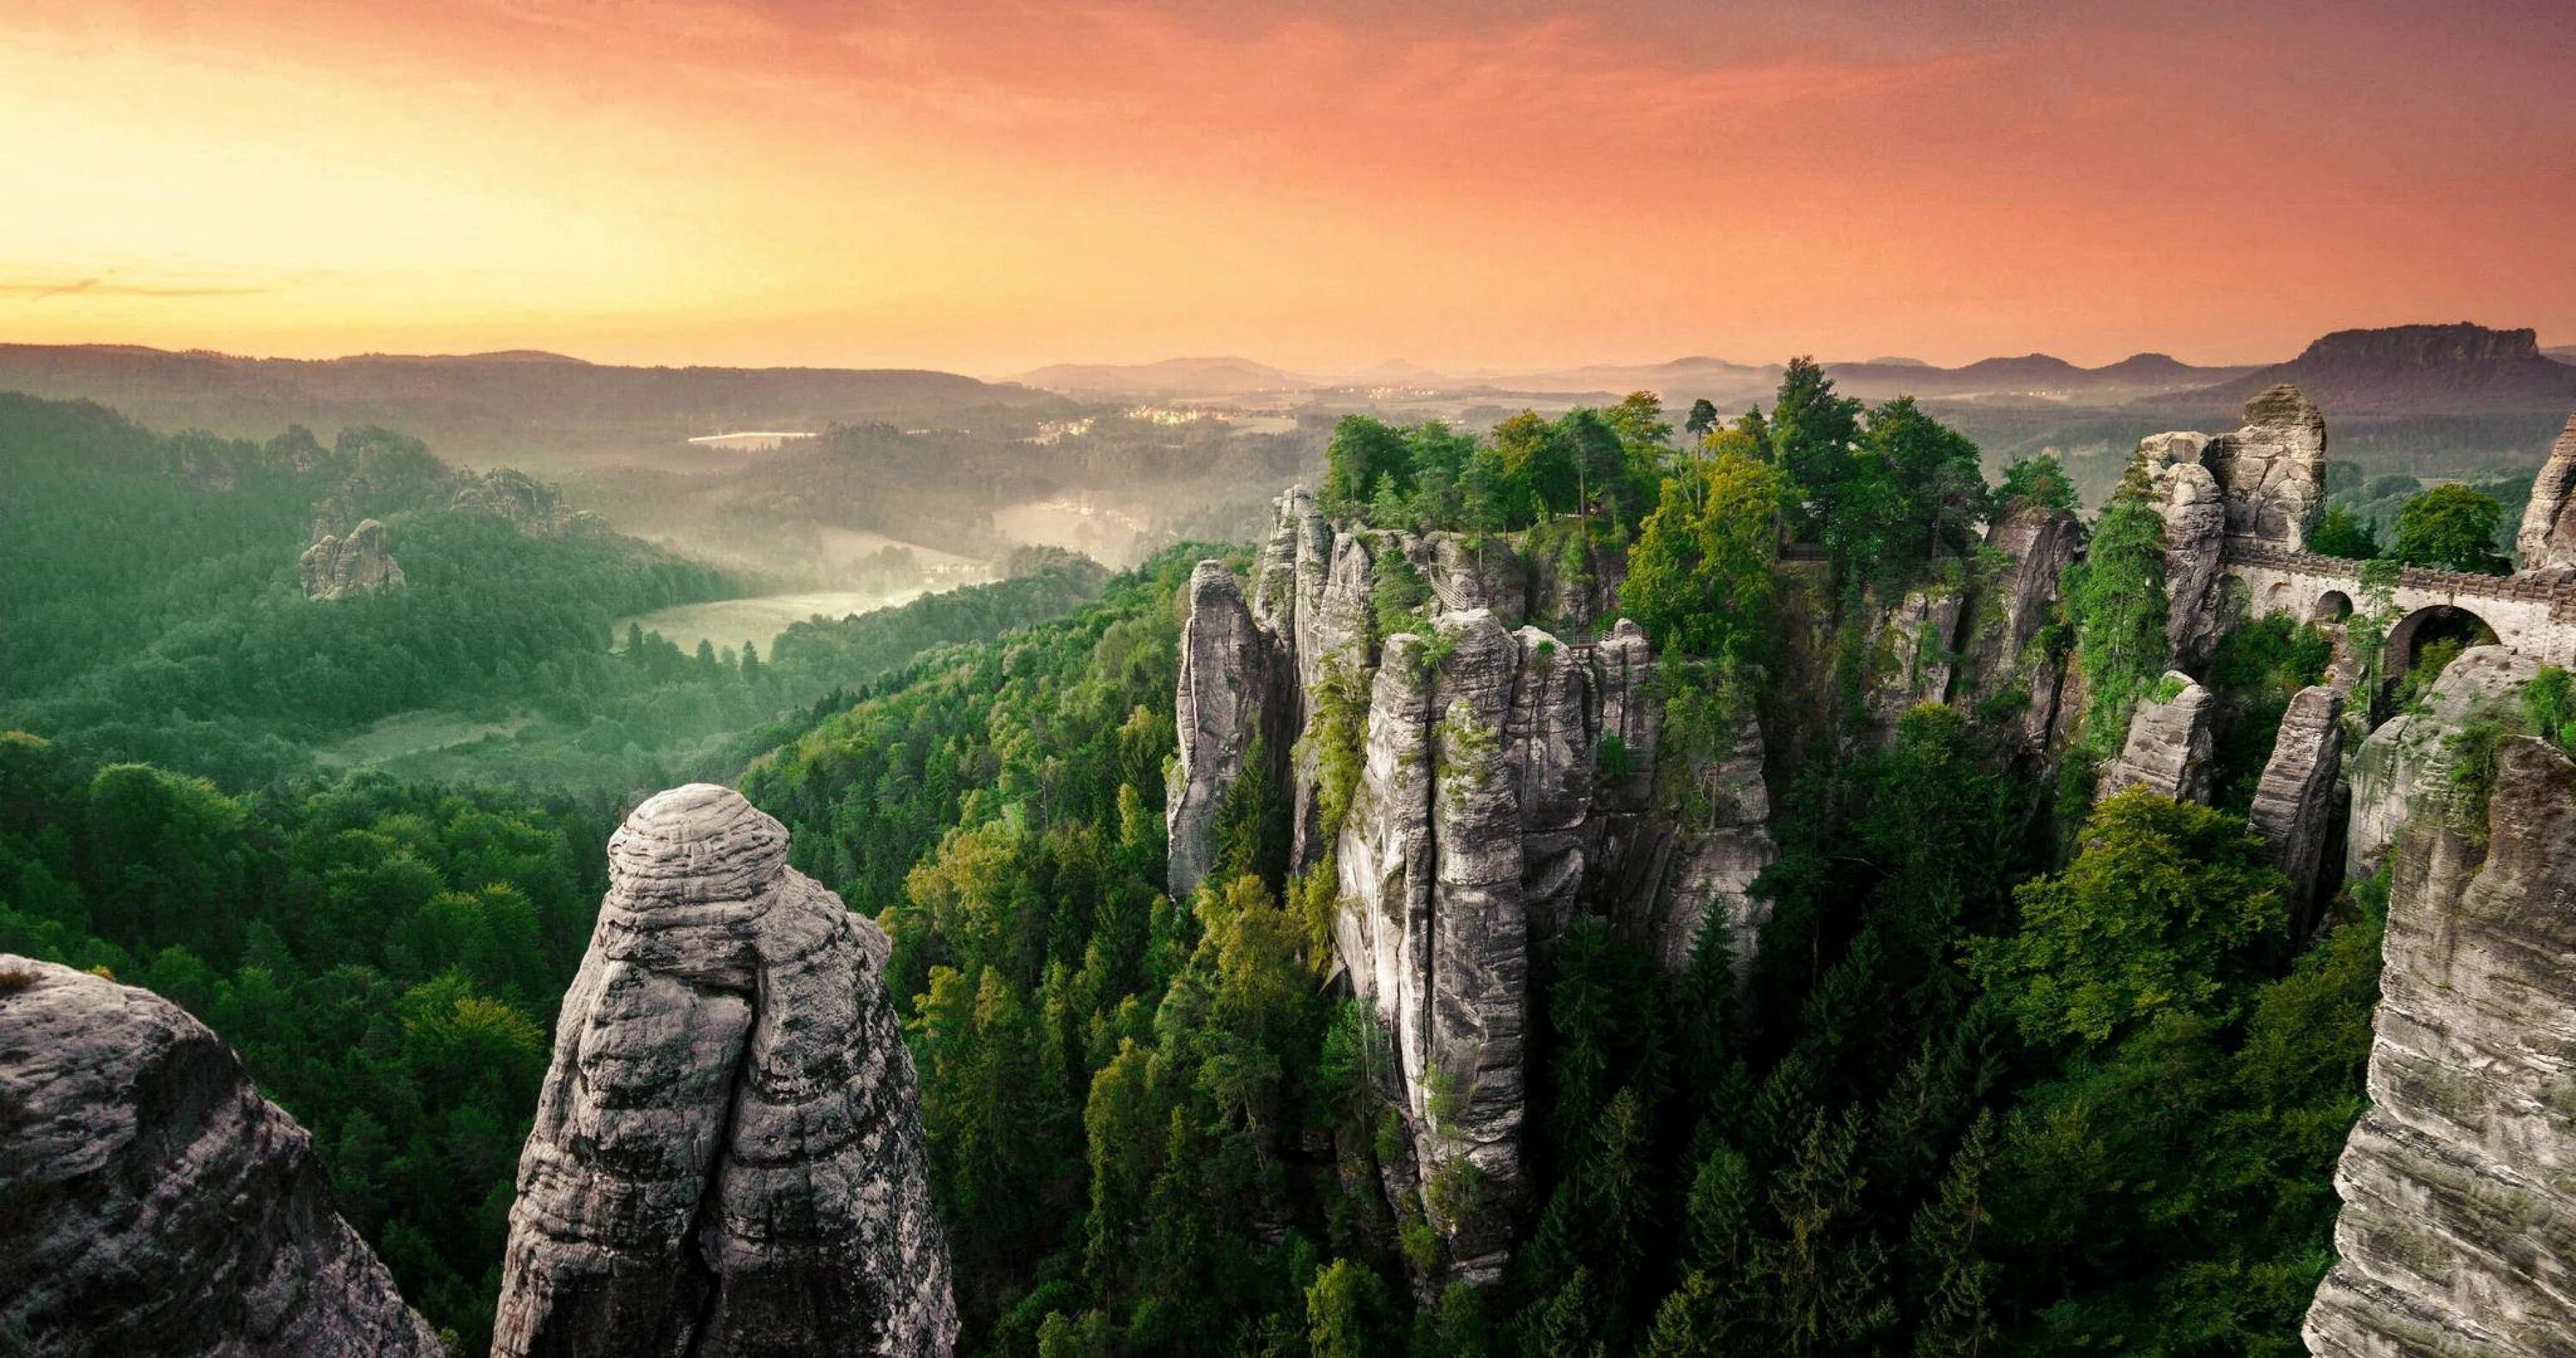
[[[886,935],[786,850],[708,783],[608,840],[520,1154],[495,1358],[956,1348]]]

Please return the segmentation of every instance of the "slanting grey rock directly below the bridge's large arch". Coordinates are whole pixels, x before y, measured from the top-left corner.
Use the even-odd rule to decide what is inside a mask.
[[[2352,827],[2344,879],[2378,871],[2398,830],[2450,794],[2450,734],[2483,714],[2504,714],[2540,673],[2540,662],[2506,647],[2470,647],[2434,680],[2419,711],[2383,722],[2352,752]]]

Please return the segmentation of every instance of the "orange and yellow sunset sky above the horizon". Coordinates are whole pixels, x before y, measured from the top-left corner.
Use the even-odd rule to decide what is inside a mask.
[[[2576,340],[2568,0],[0,21],[0,340],[976,374]]]

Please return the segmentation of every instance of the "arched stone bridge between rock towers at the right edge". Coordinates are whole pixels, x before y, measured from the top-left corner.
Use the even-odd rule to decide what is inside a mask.
[[[2246,588],[2246,616],[2287,613],[2298,621],[2336,621],[2362,603],[2362,562],[2311,557],[2275,544],[2228,539],[2221,569]],[[2458,569],[2398,567],[2396,621],[2388,629],[2391,670],[2414,662],[2416,634],[2437,618],[2468,613],[2496,642],[2543,665],[2576,667],[2576,575],[2470,575]]]

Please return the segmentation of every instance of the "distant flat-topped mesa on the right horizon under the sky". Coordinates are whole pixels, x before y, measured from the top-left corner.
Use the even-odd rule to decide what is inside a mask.
[[[2476,415],[2576,407],[2576,366],[2540,353],[2532,330],[2391,325],[2336,330],[2287,363],[2251,371],[2172,405],[2228,407],[2277,381],[2329,415]]]

